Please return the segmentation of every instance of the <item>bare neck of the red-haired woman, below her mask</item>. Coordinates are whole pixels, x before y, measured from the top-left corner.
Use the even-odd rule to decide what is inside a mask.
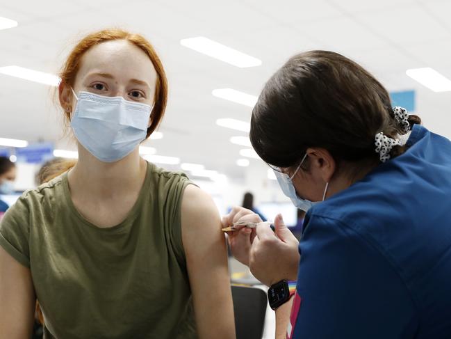
[[[79,161],[69,171],[68,180],[71,191],[110,197],[141,187],[146,171],[147,162],[139,156],[138,148],[119,161],[106,163],[79,146]]]

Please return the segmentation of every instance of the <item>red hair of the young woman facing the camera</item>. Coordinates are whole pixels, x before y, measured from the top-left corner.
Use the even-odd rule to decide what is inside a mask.
[[[76,74],[79,72],[81,58],[91,47],[99,45],[102,42],[113,40],[126,40],[141,49],[154,65],[157,74],[156,88],[154,95],[154,109],[151,111],[151,124],[147,129],[147,137],[154,132],[156,127],[161,123],[165,114],[167,104],[167,79],[163,65],[155,52],[154,47],[143,36],[139,34],[129,33],[122,29],[104,29],[85,36],[69,54],[65,65],[60,71],[61,81],[74,87]],[[67,120],[70,120],[70,112],[65,111]]]

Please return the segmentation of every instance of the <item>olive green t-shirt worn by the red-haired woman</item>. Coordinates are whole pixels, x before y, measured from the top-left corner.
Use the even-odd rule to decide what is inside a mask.
[[[72,203],[67,173],[26,191],[0,224],[0,245],[31,270],[44,338],[197,338],[181,241],[183,173],[153,164],[117,226]]]

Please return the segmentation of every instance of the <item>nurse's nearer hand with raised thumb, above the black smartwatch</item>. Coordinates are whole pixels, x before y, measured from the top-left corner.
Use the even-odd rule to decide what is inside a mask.
[[[257,225],[256,237],[249,254],[252,274],[265,285],[281,280],[297,280],[299,267],[299,242],[285,226],[281,214],[274,220],[275,232],[266,225]]]

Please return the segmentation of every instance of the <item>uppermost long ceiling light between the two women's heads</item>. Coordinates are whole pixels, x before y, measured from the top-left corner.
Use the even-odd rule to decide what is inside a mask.
[[[196,52],[206,54],[212,58],[216,58],[220,61],[224,61],[224,63],[229,63],[239,68],[261,65],[261,60],[258,58],[254,58],[254,56],[249,56],[203,36],[182,39],[180,40],[180,45],[194,49]]]

